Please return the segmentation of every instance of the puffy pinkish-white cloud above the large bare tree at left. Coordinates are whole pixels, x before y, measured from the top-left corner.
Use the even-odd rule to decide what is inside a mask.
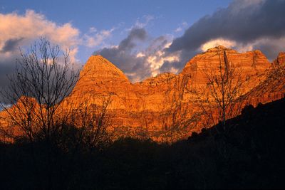
[[[71,23],[58,25],[32,10],[26,11],[24,15],[16,12],[0,14],[0,23],[1,58],[14,58],[20,46],[28,46],[38,38],[46,37],[63,50],[70,48],[71,60],[76,60],[77,46],[81,43],[80,31]]]

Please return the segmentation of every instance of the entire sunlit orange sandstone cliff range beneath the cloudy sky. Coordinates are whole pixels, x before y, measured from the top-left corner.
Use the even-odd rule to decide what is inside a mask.
[[[200,120],[203,117],[197,113],[201,112],[199,102],[206,99],[202,93],[208,83],[204,70],[217,73],[219,65],[224,64],[224,56],[227,56],[228,64],[241,73],[242,95],[247,97],[247,103],[257,105],[284,96],[284,69],[272,74],[272,65],[284,62],[284,53],[271,64],[261,51],[239,53],[218,46],[190,59],[177,75],[162,73],[140,83],[130,83],[119,68],[102,56],[91,56],[61,110],[82,102],[100,105],[110,98],[108,113],[112,127],[119,131],[118,137],[140,134],[162,141],[165,131],[171,133],[171,140],[187,137],[202,127]],[[0,117],[4,118],[3,112]],[[187,122],[187,118],[192,117],[193,122]],[[177,124],[184,127],[176,135],[169,129]]]

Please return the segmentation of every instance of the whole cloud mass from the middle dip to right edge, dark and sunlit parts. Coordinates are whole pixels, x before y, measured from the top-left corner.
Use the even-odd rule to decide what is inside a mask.
[[[284,9],[285,1],[232,1],[189,28],[186,22],[178,25],[175,32],[187,30],[174,40],[147,36],[150,17],[145,23],[137,21],[118,46],[95,53],[115,63],[133,82],[162,72],[178,73],[197,53],[218,45],[242,52],[260,49],[272,60],[285,48]]]

